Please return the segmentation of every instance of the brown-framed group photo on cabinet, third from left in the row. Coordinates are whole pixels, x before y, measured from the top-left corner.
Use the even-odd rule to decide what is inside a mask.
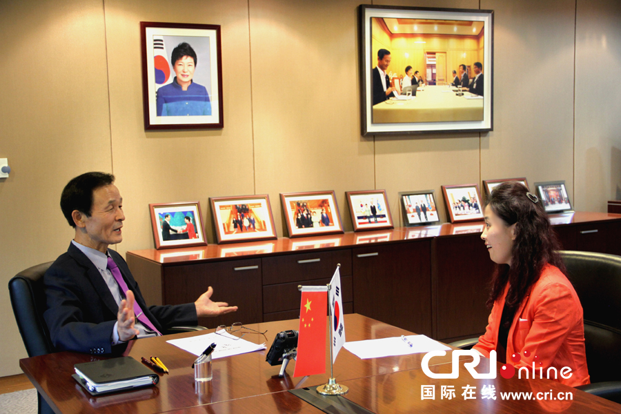
[[[281,193],[289,237],[344,233],[334,191]]]

